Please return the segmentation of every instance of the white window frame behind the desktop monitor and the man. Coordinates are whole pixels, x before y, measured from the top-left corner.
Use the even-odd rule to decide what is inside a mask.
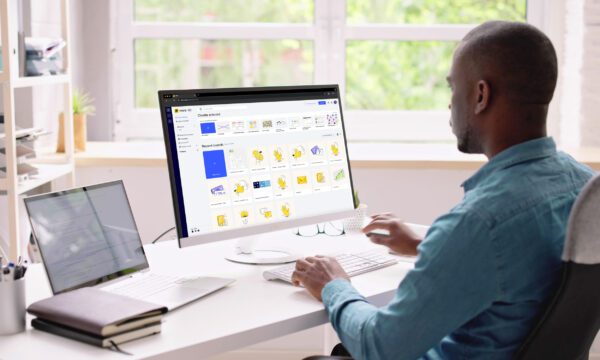
[[[545,21],[544,13],[547,12],[551,1],[528,0],[527,22],[546,31],[550,24]],[[135,107],[136,39],[309,40],[313,42],[314,84],[339,84],[342,104],[345,104],[347,41],[459,41],[476,26],[351,25],[346,24],[345,0],[314,0],[314,11],[313,23],[135,22],[134,0],[112,0],[111,22],[114,31],[111,34],[111,92],[115,119],[114,140],[158,140],[162,137],[158,106],[155,109]],[[444,110],[345,109],[344,115],[349,141],[454,141],[452,133],[441,131],[444,128],[439,126],[448,122],[449,112]],[[149,118],[157,121],[148,121]]]

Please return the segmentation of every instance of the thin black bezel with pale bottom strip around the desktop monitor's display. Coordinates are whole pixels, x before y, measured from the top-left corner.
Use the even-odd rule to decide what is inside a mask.
[[[352,169],[350,167],[350,157],[348,154],[348,140],[346,137],[346,127],[344,124],[344,114],[342,109],[342,102],[340,97],[339,85],[337,84],[328,84],[328,85],[299,85],[299,86],[268,86],[268,87],[252,87],[252,88],[217,88],[217,89],[186,89],[186,90],[160,90],[158,91],[158,101],[160,106],[160,114],[162,120],[162,128],[163,128],[163,137],[165,144],[165,152],[167,155],[167,167],[169,169],[169,180],[171,187],[171,199],[173,201],[173,214],[175,216],[175,224],[177,230],[177,239],[180,248],[200,245],[215,241],[224,241],[231,240],[235,238],[258,235],[266,232],[273,232],[278,230],[285,230],[290,228],[295,228],[304,225],[312,225],[316,223],[322,223],[332,220],[338,220],[342,218],[350,217],[354,214],[354,209],[331,212],[321,215],[315,215],[311,217],[304,217],[300,219],[291,219],[284,221],[276,221],[269,224],[259,224],[254,225],[252,227],[247,228],[235,228],[230,230],[223,230],[218,232],[210,232],[205,234],[197,234],[192,236],[183,236],[183,226],[181,223],[181,214],[180,214],[180,199],[183,200],[183,194],[178,193],[178,188],[175,185],[177,180],[177,175],[175,174],[174,164],[173,164],[173,156],[171,149],[171,138],[169,134],[169,125],[167,123],[167,116],[165,108],[167,104],[165,104],[166,99],[172,99],[173,96],[180,97],[182,99],[191,99],[191,96],[194,95],[198,98],[202,96],[243,96],[250,95],[256,96],[260,93],[292,93],[295,91],[310,91],[317,92],[322,90],[325,92],[333,91],[335,94],[329,94],[331,99],[337,99],[338,104],[340,106],[340,123],[342,125],[342,134],[344,138],[344,148],[346,152],[346,161],[348,167],[348,177],[350,179],[350,196],[352,197],[352,204],[354,205],[354,183],[352,180]],[[289,99],[282,98],[279,101],[286,101]],[[277,99],[273,99],[272,101],[278,101]],[[235,102],[231,102],[235,103]],[[181,204],[185,206],[184,204]]]

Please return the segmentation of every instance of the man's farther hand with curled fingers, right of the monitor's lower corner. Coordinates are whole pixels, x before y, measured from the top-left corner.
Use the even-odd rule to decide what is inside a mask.
[[[417,245],[421,239],[408,226],[393,214],[373,215],[371,222],[365,226],[365,234],[374,230],[387,230],[389,236],[371,235],[369,239],[375,244],[387,246],[393,252],[403,255],[417,255]]]

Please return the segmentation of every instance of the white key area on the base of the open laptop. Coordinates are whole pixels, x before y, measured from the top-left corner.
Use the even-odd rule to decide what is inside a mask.
[[[177,286],[185,279],[177,276],[148,274],[139,278],[118,282],[103,288],[115,294],[143,300],[144,298]]]

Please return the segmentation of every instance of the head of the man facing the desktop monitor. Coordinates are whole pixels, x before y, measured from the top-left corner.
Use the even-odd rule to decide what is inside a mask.
[[[448,76],[459,150],[488,155],[544,136],[557,73],[554,47],[535,27],[490,21],[471,30]]]

